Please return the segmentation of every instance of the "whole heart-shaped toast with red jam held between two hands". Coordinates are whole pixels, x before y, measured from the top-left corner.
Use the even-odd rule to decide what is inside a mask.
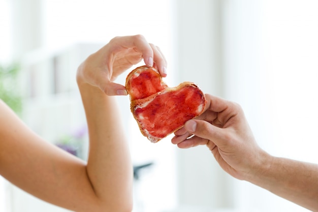
[[[141,133],[155,143],[203,113],[205,95],[193,82],[168,87],[158,70],[141,66],[126,78],[131,111]]]

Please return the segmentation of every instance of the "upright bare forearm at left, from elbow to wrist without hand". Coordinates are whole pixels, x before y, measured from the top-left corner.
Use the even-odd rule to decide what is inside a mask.
[[[78,80],[89,132],[87,174],[109,211],[132,208],[132,164],[115,97]],[[105,210],[108,211],[108,210]]]

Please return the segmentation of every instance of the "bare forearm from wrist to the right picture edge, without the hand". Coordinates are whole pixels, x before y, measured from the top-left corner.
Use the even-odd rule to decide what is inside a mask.
[[[266,156],[247,179],[270,192],[313,211],[318,210],[318,165]]]

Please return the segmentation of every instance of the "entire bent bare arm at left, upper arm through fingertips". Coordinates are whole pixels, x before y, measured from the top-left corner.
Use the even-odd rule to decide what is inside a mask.
[[[32,132],[0,101],[0,174],[44,201],[74,211],[131,211],[133,171],[113,80],[144,59],[166,76],[166,60],[141,35],[116,37],[78,68],[89,131],[87,163]]]

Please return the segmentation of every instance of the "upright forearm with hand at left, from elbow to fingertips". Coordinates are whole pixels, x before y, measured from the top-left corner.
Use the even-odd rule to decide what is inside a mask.
[[[141,35],[113,38],[77,70],[90,143],[87,176],[98,199],[106,205],[104,211],[132,210],[133,166],[112,96],[127,95],[126,88],[114,80],[142,59],[148,66],[155,63],[166,75],[162,52]]]

